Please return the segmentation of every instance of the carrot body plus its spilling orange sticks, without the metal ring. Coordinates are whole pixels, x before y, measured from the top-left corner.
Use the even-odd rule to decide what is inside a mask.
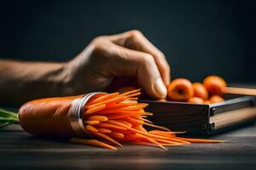
[[[144,111],[148,104],[137,102],[137,95],[139,94],[141,94],[140,89],[136,89],[124,94],[99,94],[89,99],[82,112],[86,131],[84,133],[90,135],[87,137],[88,139],[73,138],[70,141],[78,144],[95,145],[110,150],[117,150],[111,144],[122,147],[121,143],[156,146],[166,150],[165,146],[225,141],[181,138],[176,135],[184,132],[172,132],[169,128],[154,125],[153,122],[147,119],[148,116],[153,116],[153,113]],[[28,102],[20,109],[20,124],[22,127],[26,127],[30,133],[41,135],[50,133],[63,136],[67,134],[68,137],[71,137],[73,129],[70,127],[69,120],[67,120],[67,114],[73,104],[73,99],[80,99],[81,97],[82,95]],[[34,113],[38,113],[40,119],[35,117]],[[58,116],[60,118],[57,123],[52,121]],[[36,122],[34,123],[31,119],[36,120]],[[41,119],[44,119],[44,121],[41,121]],[[45,124],[45,120],[50,122],[49,125]],[[37,127],[37,122],[39,122],[40,128]],[[55,124],[58,124],[58,126],[55,126]],[[154,127],[154,130],[147,131],[144,128],[145,126]],[[33,129],[32,127],[35,128]]]

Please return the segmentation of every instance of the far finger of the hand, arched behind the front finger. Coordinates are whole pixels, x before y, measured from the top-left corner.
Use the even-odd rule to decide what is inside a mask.
[[[119,46],[151,54],[166,86],[170,83],[170,66],[166,61],[165,55],[149,42],[140,31],[127,31],[122,34],[109,36],[109,38]]]

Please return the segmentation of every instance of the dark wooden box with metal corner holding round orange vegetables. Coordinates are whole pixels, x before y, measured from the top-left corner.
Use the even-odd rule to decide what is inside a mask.
[[[173,131],[186,131],[189,135],[220,133],[256,120],[255,96],[226,94],[224,99],[224,102],[211,105],[154,100],[143,102],[149,104],[146,111],[154,113],[154,116],[148,117],[149,120]]]

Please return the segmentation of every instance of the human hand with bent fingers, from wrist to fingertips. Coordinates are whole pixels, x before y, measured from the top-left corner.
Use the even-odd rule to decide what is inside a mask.
[[[107,88],[113,77],[132,77],[155,99],[166,98],[170,66],[140,31],[96,37],[63,67],[66,94]],[[65,94],[64,93],[64,94]]]

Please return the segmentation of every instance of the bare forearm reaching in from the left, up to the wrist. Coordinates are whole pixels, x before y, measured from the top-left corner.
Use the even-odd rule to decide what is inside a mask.
[[[30,99],[63,95],[63,63],[0,59],[0,103],[20,105]]]

